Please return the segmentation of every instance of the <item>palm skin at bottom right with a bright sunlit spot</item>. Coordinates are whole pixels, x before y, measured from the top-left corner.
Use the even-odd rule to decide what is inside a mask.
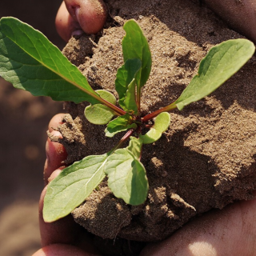
[[[256,255],[256,199],[197,218],[142,256]]]

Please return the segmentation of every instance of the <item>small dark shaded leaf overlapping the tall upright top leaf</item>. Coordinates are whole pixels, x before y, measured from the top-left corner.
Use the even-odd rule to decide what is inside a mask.
[[[127,59],[125,64],[118,69],[115,80],[115,90],[118,92],[119,105],[127,112],[133,110],[134,114],[138,112],[134,77],[141,66],[142,62],[138,58]]]

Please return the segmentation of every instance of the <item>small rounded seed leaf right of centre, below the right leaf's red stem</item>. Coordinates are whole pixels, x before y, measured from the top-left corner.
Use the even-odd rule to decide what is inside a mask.
[[[156,142],[161,138],[162,133],[165,132],[170,126],[170,114],[167,112],[162,112],[154,120],[154,126],[145,134],[141,135],[140,138],[143,144],[150,144]]]

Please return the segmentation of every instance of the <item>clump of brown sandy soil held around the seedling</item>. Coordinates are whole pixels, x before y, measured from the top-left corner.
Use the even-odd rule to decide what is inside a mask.
[[[242,38],[205,6],[190,1],[106,1],[110,17],[95,38],[72,38],[65,50],[94,89],[114,90],[123,64],[123,23],[135,18],[150,43],[153,66],[142,90],[142,114],[174,102],[197,73],[210,48]],[[85,42],[90,42],[86,51]],[[92,49],[92,50],[91,50]],[[75,52],[75,54],[74,54]],[[252,198],[255,188],[255,58],[214,94],[170,113],[170,128],[143,146],[150,192],[141,206],[114,198],[106,181],[73,211],[76,222],[102,238],[152,242],[166,238],[195,215]],[[86,103],[66,103],[70,114],[59,127],[67,164],[88,154],[104,154],[117,142],[104,126],[86,121]],[[122,134],[119,135],[122,136]]]

